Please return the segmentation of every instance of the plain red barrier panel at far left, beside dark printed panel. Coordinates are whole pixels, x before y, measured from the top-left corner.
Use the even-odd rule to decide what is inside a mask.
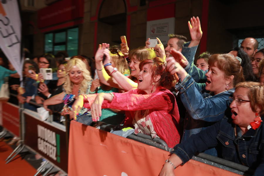
[[[2,126],[16,136],[19,136],[19,107],[11,103],[1,103]]]

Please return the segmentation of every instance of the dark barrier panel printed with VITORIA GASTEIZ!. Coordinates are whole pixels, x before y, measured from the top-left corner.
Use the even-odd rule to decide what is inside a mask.
[[[24,112],[24,143],[67,172],[66,131]]]

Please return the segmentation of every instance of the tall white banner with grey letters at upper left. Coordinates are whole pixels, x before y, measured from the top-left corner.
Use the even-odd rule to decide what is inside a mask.
[[[21,20],[17,0],[0,0],[0,48],[22,78]]]

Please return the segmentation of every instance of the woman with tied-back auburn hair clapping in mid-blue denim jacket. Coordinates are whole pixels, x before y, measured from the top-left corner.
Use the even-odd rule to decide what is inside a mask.
[[[178,61],[186,58],[178,51],[171,51]],[[177,73],[180,82],[175,85],[187,113],[184,119],[182,141],[192,134],[199,133],[215,122],[220,121],[229,106],[228,99],[234,92],[234,86],[244,81],[243,69],[239,61],[228,54],[215,54],[209,60],[209,71],[206,83],[196,83],[185,69],[174,59],[167,58],[167,69],[171,74]],[[209,93],[207,93],[207,92]],[[205,153],[217,156],[216,150],[209,149]]]

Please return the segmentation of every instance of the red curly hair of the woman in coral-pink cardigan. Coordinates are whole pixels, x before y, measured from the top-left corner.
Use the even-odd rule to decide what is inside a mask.
[[[145,64],[152,65],[152,79],[154,79],[156,75],[160,75],[160,80],[158,81],[160,86],[165,87],[166,89],[170,89],[173,86],[175,78],[170,72],[166,71],[167,62],[165,60],[160,57],[142,60],[139,64],[140,70],[142,70],[142,67]]]

